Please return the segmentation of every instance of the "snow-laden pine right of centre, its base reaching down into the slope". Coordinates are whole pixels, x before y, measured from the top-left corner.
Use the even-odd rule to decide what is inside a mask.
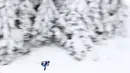
[[[88,11],[86,2],[85,0],[65,0],[60,4],[59,0],[55,1],[55,3],[61,17],[57,23],[64,26],[64,34],[67,37],[66,40],[63,39],[64,48],[75,59],[81,60],[93,45],[90,38],[92,33],[89,31],[91,28],[88,28],[89,25],[85,19]]]

